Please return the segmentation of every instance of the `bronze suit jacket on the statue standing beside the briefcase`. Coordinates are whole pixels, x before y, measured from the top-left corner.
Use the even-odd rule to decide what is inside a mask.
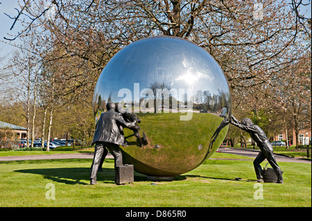
[[[135,127],[135,123],[125,122],[123,116],[115,112],[114,109],[103,112],[96,123],[96,131],[94,132],[92,144],[96,141],[102,141],[122,145],[125,138],[119,131],[119,125],[128,128]]]

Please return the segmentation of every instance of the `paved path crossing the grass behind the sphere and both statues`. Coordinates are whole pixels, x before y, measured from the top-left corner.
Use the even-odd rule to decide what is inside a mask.
[[[257,157],[259,150],[250,150],[250,149],[239,149],[239,148],[219,148],[218,152],[225,152],[229,154],[236,154],[246,157]],[[34,160],[34,159],[93,159],[94,153],[85,152],[85,153],[73,153],[73,154],[42,154],[42,155],[29,155],[29,156],[8,156],[0,157],[0,161],[19,161],[19,160]],[[108,153],[106,156],[107,159],[112,159],[112,154]],[[297,159],[287,157],[281,154],[275,154],[277,161],[281,162],[295,162],[295,163],[311,163],[311,160],[308,159]],[[212,155],[211,159],[214,158]],[[228,160],[243,160],[243,159],[228,159]],[[247,159],[249,160],[249,159]],[[254,159],[250,159],[253,161]]]

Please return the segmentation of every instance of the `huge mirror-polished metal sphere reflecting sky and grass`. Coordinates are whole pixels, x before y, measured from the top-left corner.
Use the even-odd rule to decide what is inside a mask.
[[[185,39],[164,36],[141,39],[114,55],[94,89],[95,121],[107,102],[119,103],[125,118],[124,112],[139,118],[139,131],[123,129],[123,163],[155,177],[187,173],[211,157],[232,111],[214,58]]]

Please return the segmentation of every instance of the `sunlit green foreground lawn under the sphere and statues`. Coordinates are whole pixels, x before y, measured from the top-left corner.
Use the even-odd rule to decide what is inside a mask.
[[[216,152],[212,158],[233,155]],[[263,200],[254,199],[258,188],[252,161],[209,159],[173,182],[150,182],[135,173],[133,184],[121,186],[114,184],[112,159],[105,160],[98,184],[90,186],[91,163],[92,159],[0,161],[0,206],[311,206],[309,163],[279,162],[284,184],[262,184]],[[46,199],[53,189],[49,185],[54,186],[55,200]]]

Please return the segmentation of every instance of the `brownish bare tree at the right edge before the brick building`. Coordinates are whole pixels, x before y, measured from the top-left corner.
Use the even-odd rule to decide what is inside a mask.
[[[280,117],[286,134],[287,125],[290,124],[294,128],[293,139],[296,139],[298,148],[301,124],[311,127],[311,48],[308,48],[299,63],[285,70],[284,78],[279,82],[279,87],[270,100],[271,107],[281,109]]]

